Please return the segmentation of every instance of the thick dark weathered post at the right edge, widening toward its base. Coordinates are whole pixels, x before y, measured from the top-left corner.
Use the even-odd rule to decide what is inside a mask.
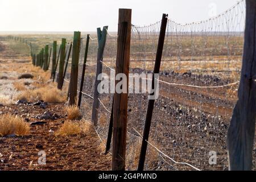
[[[229,169],[251,170],[256,119],[256,1],[246,0],[245,43],[238,101],[228,131]]]

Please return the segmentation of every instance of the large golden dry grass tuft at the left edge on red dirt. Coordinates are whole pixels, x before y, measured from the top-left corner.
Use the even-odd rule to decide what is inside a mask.
[[[30,133],[30,126],[22,118],[14,115],[0,115],[0,136],[15,134],[16,136],[25,136]]]

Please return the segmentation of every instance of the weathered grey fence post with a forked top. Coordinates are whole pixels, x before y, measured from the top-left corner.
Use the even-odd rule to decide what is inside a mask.
[[[101,31],[101,28],[97,28],[97,36],[98,36],[98,53],[97,53],[97,68],[96,68],[96,77],[94,82],[94,100],[93,100],[93,108],[92,108],[92,122],[94,123],[94,126],[97,126],[98,123],[98,108],[100,107],[100,102],[98,101],[98,84],[100,84],[100,80],[98,80],[98,75],[102,73],[102,63],[103,61],[103,54],[104,54],[104,48],[106,43],[106,35],[108,31],[108,26],[103,27],[103,30]]]

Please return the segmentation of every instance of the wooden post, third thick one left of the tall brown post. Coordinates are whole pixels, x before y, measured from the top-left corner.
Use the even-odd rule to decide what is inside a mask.
[[[62,39],[61,45],[60,45],[60,64],[59,64],[58,85],[57,85],[58,89],[61,89],[61,85],[63,82],[65,49],[66,49],[66,39]]]

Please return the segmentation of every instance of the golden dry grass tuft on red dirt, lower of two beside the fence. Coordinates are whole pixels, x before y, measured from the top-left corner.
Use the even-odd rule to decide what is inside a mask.
[[[65,121],[65,123],[57,131],[56,135],[68,136],[68,135],[78,135],[81,133],[81,127],[78,123],[73,123],[71,121]]]

